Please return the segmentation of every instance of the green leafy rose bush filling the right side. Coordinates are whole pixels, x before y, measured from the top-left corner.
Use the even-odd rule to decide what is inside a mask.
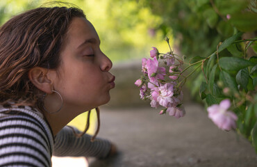
[[[257,152],[257,1],[142,0],[140,3],[163,18],[157,29],[164,36],[172,29],[192,71],[194,62],[201,67],[191,81],[187,80],[192,93],[199,93],[206,106],[231,100],[231,110],[238,116],[238,133],[249,139]]]

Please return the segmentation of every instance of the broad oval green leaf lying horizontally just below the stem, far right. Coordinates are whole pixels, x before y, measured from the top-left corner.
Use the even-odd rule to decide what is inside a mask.
[[[223,57],[219,59],[219,66],[224,70],[238,71],[244,67],[254,65],[251,61],[244,60],[244,58],[238,57]]]

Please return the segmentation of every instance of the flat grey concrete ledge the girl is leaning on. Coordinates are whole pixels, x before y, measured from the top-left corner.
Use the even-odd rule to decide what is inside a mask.
[[[89,159],[90,167],[256,167],[251,143],[218,129],[202,106],[185,104],[176,119],[156,109],[102,109],[100,137],[119,149],[116,157]]]

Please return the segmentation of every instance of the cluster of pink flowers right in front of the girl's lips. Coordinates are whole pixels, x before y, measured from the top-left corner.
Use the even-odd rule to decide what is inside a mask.
[[[151,100],[151,107],[165,107],[160,114],[169,113],[169,116],[183,117],[185,115],[182,106],[183,93],[178,84],[179,72],[182,71],[181,61],[172,51],[160,54],[156,47],[150,51],[150,56],[151,58],[142,58],[144,75],[135,81],[135,85],[140,87],[140,98]]]

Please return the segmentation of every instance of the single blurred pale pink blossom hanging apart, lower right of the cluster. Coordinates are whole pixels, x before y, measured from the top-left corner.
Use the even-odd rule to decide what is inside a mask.
[[[226,99],[222,100],[219,105],[213,104],[207,108],[208,117],[222,130],[229,131],[236,128],[235,121],[238,117],[232,111],[228,111],[230,106],[230,101]]]

